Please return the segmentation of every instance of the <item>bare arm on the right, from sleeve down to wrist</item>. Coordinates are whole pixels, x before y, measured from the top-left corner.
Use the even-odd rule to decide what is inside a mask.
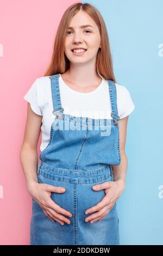
[[[126,172],[127,172],[127,166],[128,166],[127,155],[125,153],[128,117],[129,115],[118,121],[119,131],[120,131],[121,163],[119,166],[111,166],[112,174],[114,176],[114,181],[120,182],[120,184],[122,184],[122,187],[126,186]]]

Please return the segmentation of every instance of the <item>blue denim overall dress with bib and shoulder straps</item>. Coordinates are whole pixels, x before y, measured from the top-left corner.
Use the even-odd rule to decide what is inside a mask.
[[[85,211],[105,196],[92,186],[113,181],[110,165],[121,162],[116,86],[108,80],[113,119],[92,119],[64,114],[61,106],[60,74],[50,76],[53,113],[49,143],[40,154],[39,183],[65,187],[64,193],[51,194],[52,200],[70,211],[71,223],[52,222],[32,199],[30,245],[119,245],[116,203],[101,222],[85,222]],[[109,97],[109,95],[108,95]],[[70,99],[71,100],[71,99]]]

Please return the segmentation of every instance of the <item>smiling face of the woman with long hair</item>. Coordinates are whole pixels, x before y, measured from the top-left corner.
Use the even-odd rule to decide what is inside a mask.
[[[82,27],[85,25],[90,25]],[[101,36],[95,21],[80,10],[73,16],[66,32],[65,54],[73,64],[96,60],[97,52],[101,43]],[[85,52],[74,53],[73,48],[85,48]]]

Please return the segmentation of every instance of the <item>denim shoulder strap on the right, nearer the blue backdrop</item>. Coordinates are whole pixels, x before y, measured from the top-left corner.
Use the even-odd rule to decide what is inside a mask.
[[[118,124],[118,120],[120,117],[118,116],[118,109],[117,109],[117,91],[116,85],[112,80],[108,80],[109,84],[109,93],[110,93],[110,102],[111,102],[111,117],[114,120],[114,124]]]

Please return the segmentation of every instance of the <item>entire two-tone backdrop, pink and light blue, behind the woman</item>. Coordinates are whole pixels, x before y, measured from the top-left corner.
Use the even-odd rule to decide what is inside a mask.
[[[61,16],[73,3],[0,1],[1,245],[29,244],[32,199],[19,161],[27,114],[23,96],[43,76]],[[135,104],[128,120],[126,189],[117,201],[121,244],[163,245],[163,1],[87,3],[104,18],[117,83]]]

